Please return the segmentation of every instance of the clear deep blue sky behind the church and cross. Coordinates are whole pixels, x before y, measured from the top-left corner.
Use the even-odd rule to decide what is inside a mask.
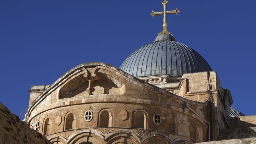
[[[234,108],[255,112],[255,0],[170,0],[168,30],[200,53],[230,89]],[[31,85],[51,84],[85,62],[119,67],[162,30],[161,0],[0,1],[0,102],[14,114]]]

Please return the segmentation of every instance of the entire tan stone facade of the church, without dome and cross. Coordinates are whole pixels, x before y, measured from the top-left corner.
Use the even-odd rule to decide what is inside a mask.
[[[29,92],[27,122],[54,144],[198,143],[231,127],[233,101],[216,71],[135,78],[84,63]]]

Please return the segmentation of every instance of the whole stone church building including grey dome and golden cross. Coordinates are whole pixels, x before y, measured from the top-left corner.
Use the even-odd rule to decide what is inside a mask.
[[[25,121],[53,144],[192,144],[245,138],[256,116],[230,108],[231,93],[194,49],[163,31],[117,68],[79,64],[51,85],[29,90]],[[154,37],[152,37],[154,38]],[[244,132],[244,135],[247,134]],[[248,133],[248,137],[251,137]]]

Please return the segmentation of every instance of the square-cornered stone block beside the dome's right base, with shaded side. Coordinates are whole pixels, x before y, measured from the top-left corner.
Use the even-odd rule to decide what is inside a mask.
[[[210,85],[210,89],[209,89]],[[185,97],[189,100],[205,102],[210,101],[212,97],[212,139],[218,140],[219,129],[227,128],[226,109],[231,103],[224,104],[224,89],[221,88],[221,83],[216,71],[200,72],[184,74],[179,85],[176,87],[163,88],[166,91]],[[209,94],[210,91],[210,94]],[[227,105],[227,107],[223,107]],[[207,114],[210,113],[208,109]],[[223,116],[224,115],[224,116]],[[209,118],[209,117],[208,117]],[[209,119],[206,119],[208,122]]]

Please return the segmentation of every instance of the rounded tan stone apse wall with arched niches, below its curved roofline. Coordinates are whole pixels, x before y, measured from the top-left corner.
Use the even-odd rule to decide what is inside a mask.
[[[170,141],[177,138],[187,141],[206,141],[207,124],[187,109],[185,102],[188,102],[189,106],[204,118],[207,117],[207,103],[190,101],[166,92],[130,75],[121,74],[122,71],[117,72],[107,67],[99,67],[96,72],[94,67],[86,67],[86,69],[88,73],[90,71],[96,75],[94,75],[96,85],[91,85],[95,89],[92,95],[89,95],[86,90],[89,83],[84,84],[86,82],[82,82],[81,79],[88,81],[87,78],[90,75],[86,77],[83,71],[77,69],[72,71],[70,76],[64,75],[63,79],[54,82],[56,85],[49,86],[30,105],[28,122],[31,127],[40,123],[39,132],[47,135],[52,142],[57,142],[57,138],[60,137],[63,140],[62,143],[77,143],[81,137],[76,136],[87,133],[98,134],[91,140],[96,142],[100,137],[101,141],[97,143],[113,141],[128,143],[132,139],[135,144],[138,141],[153,142],[154,139],[162,141],[162,138],[165,142],[166,138]],[[70,89],[66,87],[61,91],[65,85]],[[60,94],[66,95],[61,97]],[[93,113],[91,121],[85,121],[85,112],[88,110]],[[136,115],[138,111],[143,114]],[[71,117],[69,117],[70,114]],[[154,123],[155,114],[161,117],[160,124]],[[72,119],[70,125],[67,117]],[[107,119],[107,123],[103,125],[106,127],[102,128],[101,121],[105,121],[104,119]],[[119,137],[125,137],[125,139],[117,138],[120,130],[123,132]]]

